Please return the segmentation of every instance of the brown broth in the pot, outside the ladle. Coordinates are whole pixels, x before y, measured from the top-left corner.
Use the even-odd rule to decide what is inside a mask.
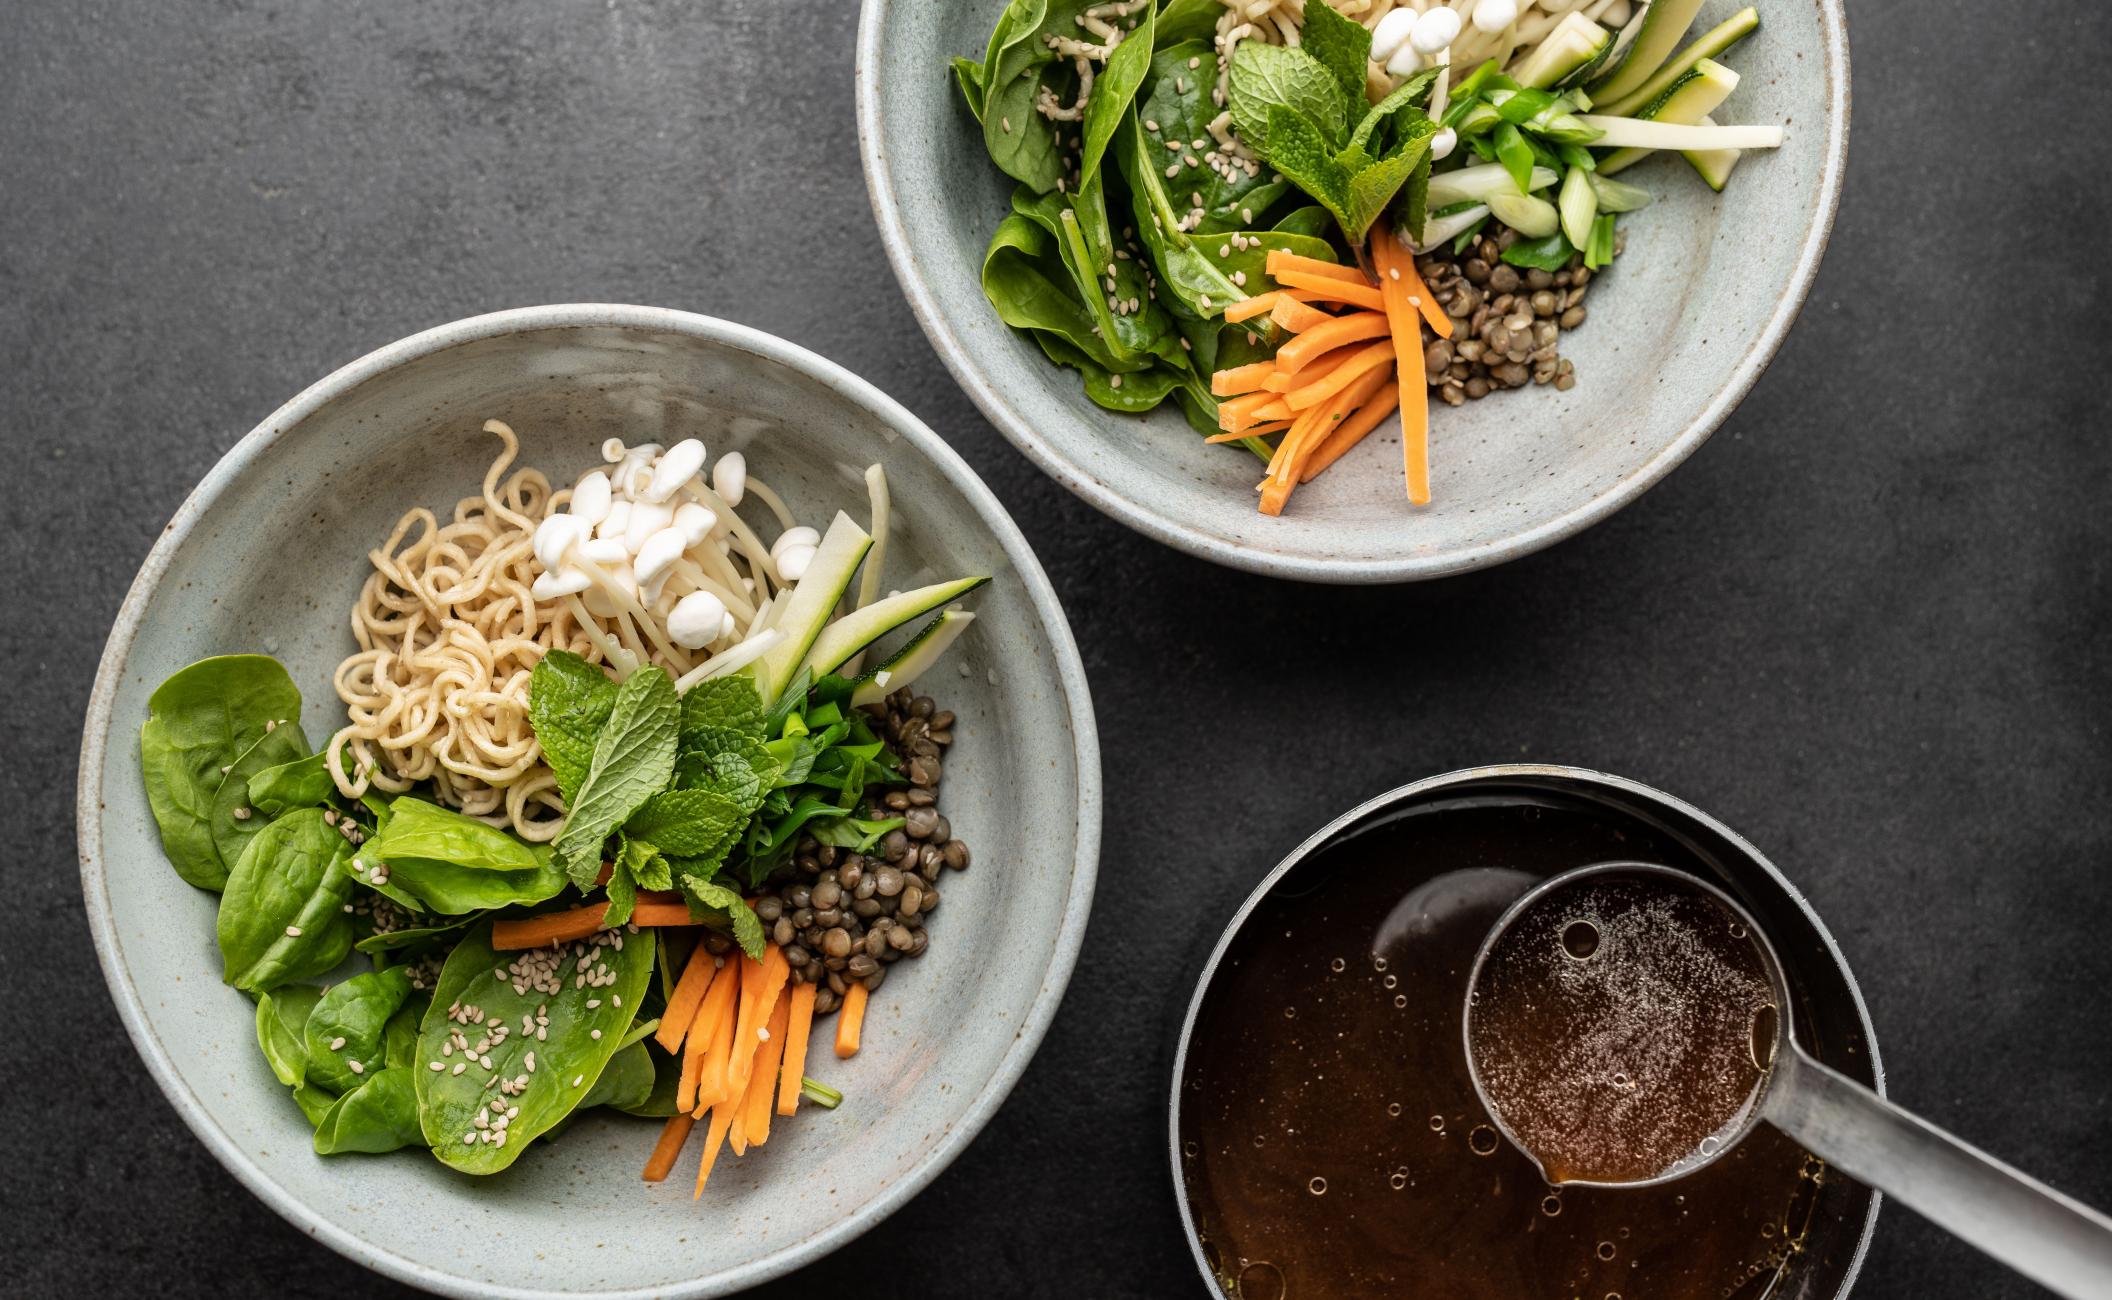
[[[1757,1300],[1808,1232],[1846,1228],[1774,1129],[1675,1184],[1557,1190],[1489,1125],[1462,1047],[1474,952],[1535,882],[1614,859],[1694,861],[1590,806],[1451,800],[1257,905],[1181,1083],[1185,1190],[1227,1296]]]

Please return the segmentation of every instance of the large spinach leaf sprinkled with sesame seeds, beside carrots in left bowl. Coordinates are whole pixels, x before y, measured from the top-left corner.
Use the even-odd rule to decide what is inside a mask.
[[[418,1119],[433,1154],[465,1173],[496,1173],[536,1135],[562,1121],[600,1081],[617,1053],[623,1030],[638,1015],[653,979],[653,931],[625,935],[600,931],[587,939],[539,950],[549,958],[528,979],[507,971],[492,952],[492,929],[479,924],[448,956],[433,986],[433,1009],[418,1032],[418,1059],[410,1066],[418,1091]],[[589,975],[581,986],[579,975]],[[515,979],[522,979],[515,992]],[[482,1021],[460,1021],[475,1007]],[[539,1026],[522,1032],[524,1017]],[[503,1040],[492,1043],[505,1026]],[[600,1036],[596,1036],[600,1032]],[[452,1049],[456,1034],[477,1045],[477,1059]],[[534,1068],[528,1068],[528,1053]],[[492,1068],[484,1068],[484,1057]],[[441,1062],[441,1070],[431,1064]],[[520,1085],[501,1097],[494,1078]],[[498,1112],[494,1100],[505,1102]],[[520,1112],[494,1129],[509,1106]],[[477,1116],[484,1123],[475,1123]],[[486,1133],[503,1133],[503,1138]],[[469,1140],[465,1142],[465,1135]]]

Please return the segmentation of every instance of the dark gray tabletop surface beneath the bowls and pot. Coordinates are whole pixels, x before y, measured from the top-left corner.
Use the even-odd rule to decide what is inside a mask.
[[[2112,8],[1852,17],[1833,249],[1715,441],[1550,553],[1337,591],[1130,536],[961,397],[866,209],[845,0],[0,4],[0,971],[34,990],[0,1053],[4,1287],[397,1292],[142,1076],[82,924],[80,715],[135,566],[251,424],[403,333],[568,300],[733,317],[906,401],[1039,549],[1102,720],[1100,897],[1039,1059],[906,1211],[769,1294],[1195,1294],[1162,1093],[1221,922],[1343,806],[1519,758],[1749,834],[1831,920],[1892,1095],[2112,1205]],[[1859,1292],[2028,1294],[1897,1209]]]

